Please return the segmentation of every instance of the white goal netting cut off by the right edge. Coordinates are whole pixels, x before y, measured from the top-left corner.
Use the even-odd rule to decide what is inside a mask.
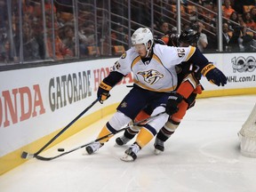
[[[256,104],[238,132],[240,150],[244,156],[256,157]]]

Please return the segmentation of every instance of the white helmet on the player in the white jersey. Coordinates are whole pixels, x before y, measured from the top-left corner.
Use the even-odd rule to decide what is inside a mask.
[[[150,47],[148,47],[148,42],[150,41]],[[132,45],[144,44],[146,50],[149,51],[153,46],[154,38],[152,32],[149,28],[138,28],[132,34]]]

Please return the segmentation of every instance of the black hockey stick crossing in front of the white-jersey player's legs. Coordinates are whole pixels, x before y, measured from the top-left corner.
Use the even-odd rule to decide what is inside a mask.
[[[152,120],[153,118],[156,118],[156,116],[161,116],[161,115],[163,115],[164,113],[165,113],[165,112],[161,112],[161,113],[159,113],[159,114],[156,114],[155,116],[149,116],[148,118],[143,119],[143,120],[141,120],[141,121],[139,121],[139,122],[136,122],[136,123],[134,123],[134,124],[127,125],[127,126],[125,126],[124,128],[118,130],[116,133],[118,133],[118,132],[123,132],[124,130],[128,129],[128,128],[131,127],[131,126],[138,126],[138,125],[140,125],[140,124],[142,124],[142,123],[144,123],[144,122],[148,122],[148,121]],[[101,137],[101,138],[98,138],[97,140],[92,140],[91,142],[86,143],[86,144],[84,144],[84,145],[82,145],[82,146],[78,146],[78,147],[76,147],[76,148],[70,149],[70,150],[68,150],[67,152],[61,153],[61,154],[58,155],[58,156],[44,157],[44,156],[38,156],[38,155],[36,155],[36,156],[34,156],[34,157],[36,157],[36,159],[39,159],[39,160],[42,160],[42,161],[51,161],[52,159],[58,158],[58,157],[60,157],[60,156],[66,156],[66,155],[68,155],[69,153],[71,153],[71,152],[73,152],[73,151],[76,151],[76,150],[79,149],[79,148],[84,148],[84,147],[86,147],[86,146],[88,146],[88,145],[91,145],[93,142],[97,142],[97,141],[100,141],[100,140],[104,140],[104,139],[108,138],[109,136],[114,135],[114,134],[116,134],[116,133],[112,133],[112,132],[111,132],[111,133],[109,133],[108,135],[105,135],[105,136],[103,136],[103,137]]]

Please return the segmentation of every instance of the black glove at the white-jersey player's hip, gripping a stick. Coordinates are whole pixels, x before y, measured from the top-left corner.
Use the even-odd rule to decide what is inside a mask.
[[[173,114],[177,113],[179,110],[178,105],[182,100],[183,96],[180,95],[178,92],[171,92],[166,103],[165,112],[169,116],[172,116]]]

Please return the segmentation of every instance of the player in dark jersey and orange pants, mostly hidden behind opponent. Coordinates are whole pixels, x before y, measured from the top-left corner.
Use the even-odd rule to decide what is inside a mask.
[[[166,44],[168,46],[184,46],[189,45],[196,46],[200,34],[196,33],[193,29],[188,29],[182,31],[180,35],[178,34],[167,34],[161,39],[155,39],[156,44]],[[164,151],[164,142],[168,140],[171,135],[178,128],[183,116],[185,116],[188,108],[195,105],[196,95],[201,94],[203,87],[200,84],[201,71],[193,64],[187,61],[176,66],[176,71],[178,74],[178,87],[175,90],[176,93],[180,93],[183,96],[183,100],[178,104],[177,112],[169,117],[164,127],[160,129],[160,132],[156,134],[156,139],[154,143],[155,153],[159,154]],[[176,104],[172,101],[169,103],[176,108]],[[167,105],[168,106],[168,105]],[[173,111],[173,109],[172,109]],[[135,117],[134,122],[139,122],[142,119],[148,118],[152,112],[152,108],[148,106],[140,111],[139,115]],[[133,122],[131,122],[132,124]],[[124,134],[116,138],[116,144],[122,146],[128,141],[132,140],[137,133],[140,131],[140,126],[131,126],[126,129]]]

